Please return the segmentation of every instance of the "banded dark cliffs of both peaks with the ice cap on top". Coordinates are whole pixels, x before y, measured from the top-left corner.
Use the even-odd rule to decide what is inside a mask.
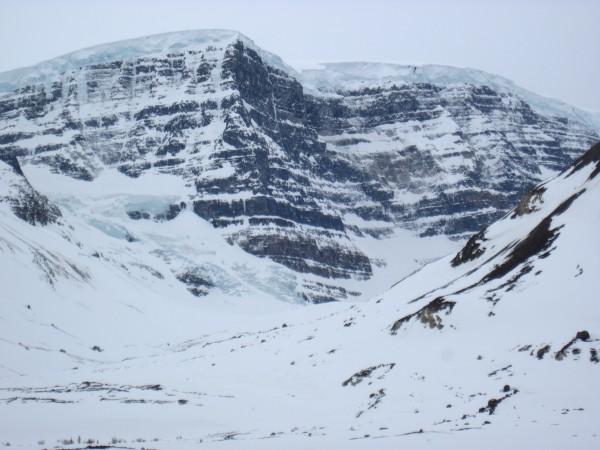
[[[360,280],[372,262],[358,236],[476,231],[598,139],[497,83],[416,68],[345,82],[356,67],[299,75],[232,32],[102,46],[0,75],[0,154],[90,183],[109,169],[174,175],[231,244]]]

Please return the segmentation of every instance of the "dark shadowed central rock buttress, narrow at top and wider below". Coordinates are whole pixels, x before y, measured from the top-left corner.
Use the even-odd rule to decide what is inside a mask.
[[[369,259],[354,248],[339,206],[323,192],[335,180],[319,171],[332,162],[304,124],[302,86],[239,41],[225,54],[222,76],[235,92],[221,104],[223,145],[211,159],[230,173],[197,179],[194,211],[235,230],[229,240],[249,253],[327,278],[368,278]],[[233,199],[222,200],[223,193]]]

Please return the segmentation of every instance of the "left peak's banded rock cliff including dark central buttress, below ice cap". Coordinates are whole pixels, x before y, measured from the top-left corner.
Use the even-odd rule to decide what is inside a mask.
[[[105,168],[180,176],[193,210],[249,253],[321,277],[369,278],[338,206],[368,199],[354,192],[366,174],[325,151],[304,108],[298,81],[232,35],[7,93],[0,142],[26,164],[91,182]]]

